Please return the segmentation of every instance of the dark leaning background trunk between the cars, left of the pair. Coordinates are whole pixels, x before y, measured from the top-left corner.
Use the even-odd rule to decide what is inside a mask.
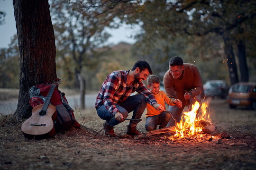
[[[227,63],[229,66],[229,78],[230,78],[230,85],[239,82],[238,81],[238,69],[236,64],[235,55],[233,52],[232,43],[229,40],[229,37],[222,35],[224,40],[224,51],[227,57]]]

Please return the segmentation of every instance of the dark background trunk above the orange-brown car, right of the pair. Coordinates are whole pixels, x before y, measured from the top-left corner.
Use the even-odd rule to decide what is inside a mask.
[[[247,59],[246,59],[246,47],[245,42],[242,40],[238,40],[238,60],[239,60],[239,68],[241,74],[241,82],[249,81],[249,73],[247,67]]]

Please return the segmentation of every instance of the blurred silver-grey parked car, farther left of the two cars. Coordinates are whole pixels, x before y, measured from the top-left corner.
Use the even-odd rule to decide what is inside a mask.
[[[229,93],[229,85],[224,80],[209,80],[203,85],[205,97],[221,97],[225,99]]]

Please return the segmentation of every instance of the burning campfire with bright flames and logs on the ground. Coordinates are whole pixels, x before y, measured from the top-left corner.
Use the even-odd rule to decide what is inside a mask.
[[[214,136],[210,134],[215,132],[217,127],[211,123],[210,112],[208,110],[209,101],[195,102],[191,111],[183,112],[180,122],[176,122],[174,127],[165,127],[139,135],[136,138],[144,138],[147,136],[168,133],[170,140],[192,140],[207,139],[212,140]],[[165,137],[166,138],[166,137]]]

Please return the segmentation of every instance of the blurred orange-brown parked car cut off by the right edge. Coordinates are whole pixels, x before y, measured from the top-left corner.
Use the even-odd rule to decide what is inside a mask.
[[[247,106],[256,110],[256,83],[235,83],[229,89],[229,107]]]

